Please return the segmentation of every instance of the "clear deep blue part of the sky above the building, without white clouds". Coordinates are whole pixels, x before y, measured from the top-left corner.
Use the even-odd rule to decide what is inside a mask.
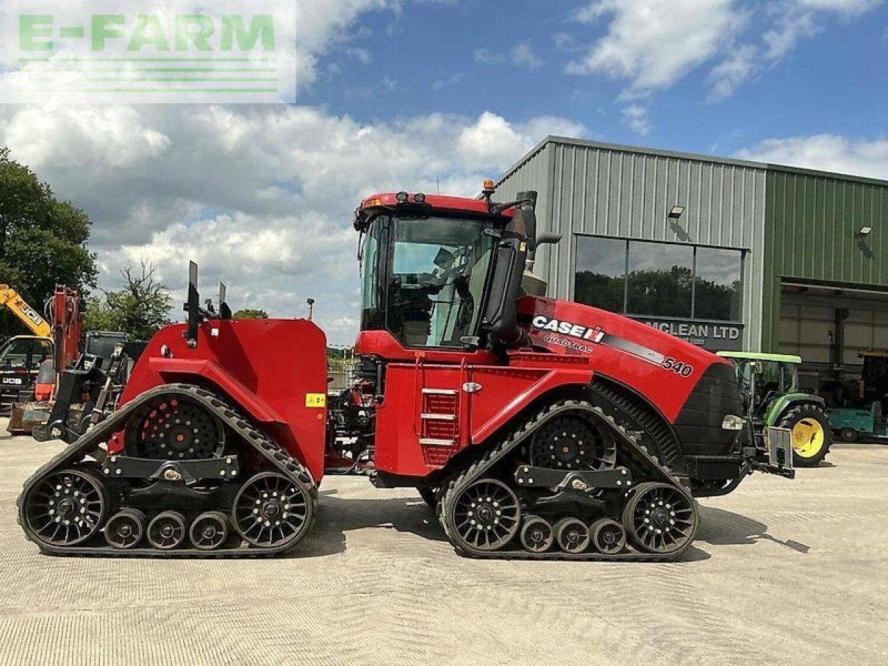
[[[591,22],[577,20],[579,12],[595,4],[465,0],[366,12],[349,31],[348,46],[329,55],[318,82],[300,91],[299,102],[324,104],[363,122],[433,112],[493,111],[516,121],[559,115],[582,123],[598,139],[721,155],[775,136],[884,129],[884,5],[824,0],[800,4],[800,9],[785,3],[781,12],[779,2],[770,10],[766,3],[728,3],[741,25],[725,28],[714,52],[688,56],[682,74],[638,98],[622,99],[631,76],[605,69],[568,71],[607,39],[614,23],[613,13]],[[718,8],[719,3],[697,4]],[[807,26],[795,44],[779,58],[753,55],[759,71],[732,94],[713,98],[713,67],[744,46],[761,48],[765,33],[780,29],[782,16],[797,28]],[[682,17],[676,18],[681,30]],[[680,51],[682,40],[667,30],[653,58]],[[694,39],[693,32],[686,35]],[[532,56],[514,58],[519,46]],[[649,128],[643,123],[632,127],[623,113],[630,107],[643,109]]]

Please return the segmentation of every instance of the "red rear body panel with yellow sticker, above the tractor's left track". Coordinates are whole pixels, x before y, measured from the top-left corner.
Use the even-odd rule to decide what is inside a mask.
[[[192,349],[185,328],[177,324],[155,334],[121,404],[172,382],[215,385],[320,480],[327,423],[323,331],[307,320],[204,321]]]

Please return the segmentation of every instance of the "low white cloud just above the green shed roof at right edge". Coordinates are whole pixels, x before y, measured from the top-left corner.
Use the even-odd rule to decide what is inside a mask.
[[[855,139],[818,134],[767,139],[741,150],[737,156],[757,162],[888,179],[888,139],[884,138]]]

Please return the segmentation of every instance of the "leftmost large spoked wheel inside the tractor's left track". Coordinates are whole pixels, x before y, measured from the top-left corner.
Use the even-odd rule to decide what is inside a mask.
[[[39,543],[74,546],[99,532],[107,511],[104,480],[88,470],[67,469],[28,490],[24,527]]]

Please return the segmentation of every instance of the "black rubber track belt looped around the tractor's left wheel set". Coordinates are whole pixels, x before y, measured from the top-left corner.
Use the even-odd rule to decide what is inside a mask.
[[[203,407],[207,408],[215,416],[226,424],[232,431],[240,435],[245,443],[264,456],[266,460],[274,466],[274,468],[289,477],[290,480],[297,481],[309,488],[309,511],[306,521],[308,525],[304,527],[303,536],[297,539],[295,543],[285,543],[277,548],[247,548],[239,545],[236,548],[219,548],[214,551],[202,551],[196,548],[178,548],[170,551],[162,551],[155,548],[132,548],[128,550],[118,550],[110,546],[69,546],[59,548],[47,543],[41,543],[32,538],[28,534],[26,527],[27,519],[25,516],[25,496],[28,490],[32,488],[37,481],[45,475],[52,472],[60,471],[67,468],[71,464],[79,463],[84,456],[97,454],[104,456],[104,450],[99,448],[99,444],[106,442],[110,436],[121,430],[129,416],[133,414],[140,406],[149,400],[160,397],[187,397],[190,400],[199,402]],[[100,458],[99,458],[100,459]],[[283,552],[291,551],[302,543],[305,535],[308,535],[313,527],[314,520],[318,514],[318,488],[312,479],[312,475],[300,464],[296,458],[290,456],[283,448],[269,439],[268,436],[250,424],[246,419],[242,418],[233,408],[230,408],[226,402],[220,400],[218,396],[210,391],[206,391],[198,386],[187,384],[167,384],[158,386],[150,391],[139,395],[135,400],[131,400],[122,408],[118,409],[113,415],[109,416],[105,421],[95,426],[91,431],[86,432],[78,440],[72,442],[54,456],[47,464],[44,464],[31,477],[25,481],[24,488],[18,500],[19,509],[19,525],[25,532],[29,541],[34,542],[46,554],[62,555],[62,556],[100,556],[100,557],[160,557],[160,558],[220,558],[220,557],[269,557],[280,555]],[[98,538],[99,533],[92,538]]]

